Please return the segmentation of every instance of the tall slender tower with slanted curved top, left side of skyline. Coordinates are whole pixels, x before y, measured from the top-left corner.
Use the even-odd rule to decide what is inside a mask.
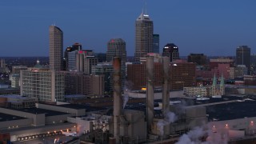
[[[63,67],[63,32],[57,26],[49,27],[49,60],[51,70]]]

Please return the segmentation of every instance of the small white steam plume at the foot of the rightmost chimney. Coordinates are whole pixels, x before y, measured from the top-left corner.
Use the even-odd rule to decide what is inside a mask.
[[[176,120],[177,116],[173,112],[166,112],[166,114],[164,115],[164,119],[159,120],[157,123],[160,135],[162,136],[164,134],[164,126],[169,125],[170,123],[175,122]]]

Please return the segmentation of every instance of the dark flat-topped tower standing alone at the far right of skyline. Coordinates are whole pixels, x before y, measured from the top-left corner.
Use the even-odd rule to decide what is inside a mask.
[[[250,47],[238,46],[236,50],[236,65],[246,65],[250,74]]]

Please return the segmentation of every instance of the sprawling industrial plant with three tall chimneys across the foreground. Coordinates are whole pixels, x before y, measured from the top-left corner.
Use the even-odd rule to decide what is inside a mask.
[[[96,108],[57,102],[37,103],[32,109],[1,107],[0,113],[10,120],[0,121],[4,129],[0,132],[10,134],[13,142],[70,132],[80,135],[81,142],[91,143],[171,143],[182,141],[184,134],[190,138],[194,130],[200,133],[191,142],[235,142],[256,136],[254,96],[170,98],[169,66],[170,59],[162,58],[160,99],[154,98],[154,58],[147,57],[146,98],[144,102],[126,105],[127,95],[122,94],[121,86],[121,58],[114,58],[113,106]]]

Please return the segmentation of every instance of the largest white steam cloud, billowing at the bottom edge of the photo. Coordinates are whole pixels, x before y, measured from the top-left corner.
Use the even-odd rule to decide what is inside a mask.
[[[214,133],[206,127],[194,127],[187,134],[183,134],[176,144],[227,144],[227,139],[220,133]]]

